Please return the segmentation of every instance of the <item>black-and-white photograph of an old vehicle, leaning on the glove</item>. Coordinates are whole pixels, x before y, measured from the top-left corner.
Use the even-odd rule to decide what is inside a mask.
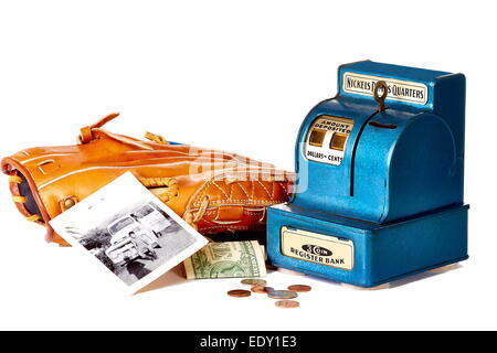
[[[129,201],[123,202],[123,195]],[[131,173],[62,213],[51,225],[70,244],[98,259],[131,292],[207,243]]]

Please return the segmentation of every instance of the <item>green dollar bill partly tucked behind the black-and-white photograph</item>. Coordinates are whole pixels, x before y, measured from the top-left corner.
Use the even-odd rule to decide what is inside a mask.
[[[258,242],[209,243],[183,261],[188,279],[266,276]]]

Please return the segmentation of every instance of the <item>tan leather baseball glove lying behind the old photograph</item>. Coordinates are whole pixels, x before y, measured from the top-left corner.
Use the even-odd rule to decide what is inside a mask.
[[[2,160],[18,210],[47,228],[47,242],[66,244],[50,220],[126,171],[205,235],[263,231],[266,207],[289,197],[292,173],[149,132],[142,141],[102,129],[117,116],[82,128],[76,146],[30,148]]]

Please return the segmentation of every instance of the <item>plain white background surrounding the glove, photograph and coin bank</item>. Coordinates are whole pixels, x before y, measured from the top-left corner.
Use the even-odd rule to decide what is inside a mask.
[[[229,298],[239,280],[186,281],[128,297],[44,243],[0,192],[0,329],[497,329],[493,1],[1,1],[0,156],[107,129],[236,151],[293,170],[308,110],[337,66],[364,58],[467,76],[469,260],[388,290],[268,276],[314,290],[294,310]],[[93,274],[93,272],[92,272]]]

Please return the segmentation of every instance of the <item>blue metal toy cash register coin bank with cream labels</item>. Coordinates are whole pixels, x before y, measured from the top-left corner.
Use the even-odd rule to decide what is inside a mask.
[[[464,260],[465,76],[363,61],[298,132],[292,200],[268,208],[277,267],[376,287]]]

